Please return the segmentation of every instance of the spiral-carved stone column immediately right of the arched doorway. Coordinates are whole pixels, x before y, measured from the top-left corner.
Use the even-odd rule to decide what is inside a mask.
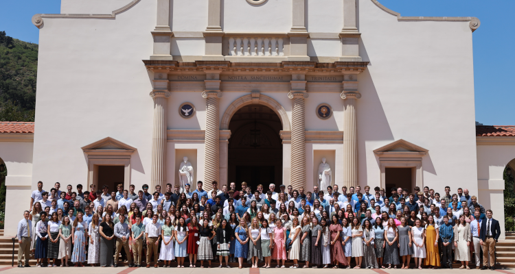
[[[306,92],[289,92],[292,102],[291,127],[291,173],[290,184],[293,189],[306,188],[306,111],[304,99]]]

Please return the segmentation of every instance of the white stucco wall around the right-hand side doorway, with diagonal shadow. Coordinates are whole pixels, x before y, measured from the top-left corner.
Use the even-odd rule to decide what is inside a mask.
[[[404,139],[428,149],[424,186],[478,194],[472,32],[468,22],[398,21],[359,2],[358,168],[361,185],[380,180],[373,150]],[[424,15],[424,14],[421,14]],[[467,171],[467,172],[464,172]]]

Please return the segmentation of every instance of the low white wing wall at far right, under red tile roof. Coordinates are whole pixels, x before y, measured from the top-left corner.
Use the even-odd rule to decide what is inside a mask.
[[[491,209],[494,219],[501,225],[501,238],[504,234],[504,179],[506,165],[515,158],[514,145],[478,145],[477,146],[477,184],[479,186],[478,203],[485,209]]]

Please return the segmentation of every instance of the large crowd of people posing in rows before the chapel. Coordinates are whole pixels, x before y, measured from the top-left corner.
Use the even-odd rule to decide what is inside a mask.
[[[119,260],[139,267],[230,267],[244,261],[252,268],[354,269],[429,268],[470,269],[469,262],[494,269],[494,249],[501,230],[477,197],[467,189],[450,187],[441,196],[427,186],[413,192],[365,186],[328,186],[312,192],[270,184],[255,190],[241,184],[212,190],[203,182],[179,192],[148,185],[135,192],[119,184],[117,190],[82,192],[82,185],[49,192],[32,192],[30,208],[18,224],[18,266],[114,266]],[[110,192],[111,191],[111,192]],[[25,256],[25,264],[22,258]],[[120,256],[122,258],[120,258]],[[185,259],[188,260],[185,260]],[[354,258],[354,260],[352,259]],[[413,263],[411,259],[413,258]],[[224,266],[225,262],[225,266]],[[199,265],[200,264],[200,265]],[[261,265],[260,265],[261,264]]]

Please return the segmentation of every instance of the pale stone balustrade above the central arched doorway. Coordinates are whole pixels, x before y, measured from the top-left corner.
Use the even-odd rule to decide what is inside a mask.
[[[282,38],[229,38],[229,55],[232,56],[284,56]]]

